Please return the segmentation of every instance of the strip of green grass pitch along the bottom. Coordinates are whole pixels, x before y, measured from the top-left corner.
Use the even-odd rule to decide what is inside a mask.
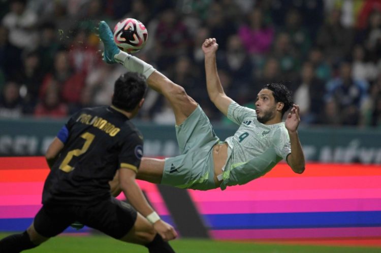
[[[8,233],[0,233],[4,238]],[[322,245],[294,245],[279,243],[230,242],[203,239],[176,239],[170,242],[179,253],[241,253],[241,252],[267,252],[267,253],[354,253],[381,252],[381,247],[358,246],[322,246]],[[30,253],[147,253],[148,250],[140,245],[125,243],[104,235],[59,235],[50,239],[41,246],[27,250]]]

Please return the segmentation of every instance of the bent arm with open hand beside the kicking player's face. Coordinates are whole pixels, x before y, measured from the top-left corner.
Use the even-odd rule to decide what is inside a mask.
[[[291,112],[285,120],[285,127],[289,131],[291,154],[287,157],[287,162],[295,173],[303,173],[305,161],[302,145],[298,135],[298,126],[300,123],[299,105],[294,104]]]

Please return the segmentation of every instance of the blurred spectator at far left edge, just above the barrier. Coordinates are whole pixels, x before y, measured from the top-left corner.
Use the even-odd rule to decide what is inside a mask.
[[[21,117],[23,106],[19,85],[13,81],[7,82],[0,96],[0,118]]]

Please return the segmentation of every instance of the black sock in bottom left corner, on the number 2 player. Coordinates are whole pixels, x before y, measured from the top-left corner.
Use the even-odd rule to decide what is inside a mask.
[[[30,241],[29,235],[24,231],[21,234],[13,234],[0,240],[0,252],[18,253],[24,249],[34,248],[38,245]]]

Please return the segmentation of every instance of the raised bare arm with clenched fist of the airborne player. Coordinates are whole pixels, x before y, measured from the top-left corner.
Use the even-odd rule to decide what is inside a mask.
[[[218,77],[215,57],[217,49],[218,44],[214,38],[206,39],[202,44],[202,50],[205,54],[206,88],[210,100],[226,116],[228,115],[229,105],[233,100],[225,94]]]

